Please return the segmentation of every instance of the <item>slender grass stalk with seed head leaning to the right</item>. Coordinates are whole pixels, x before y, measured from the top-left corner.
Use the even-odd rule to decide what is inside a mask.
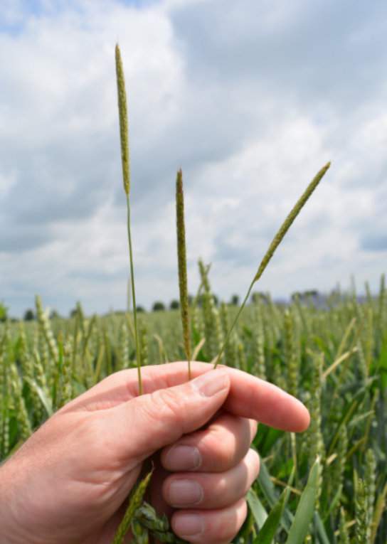
[[[233,328],[234,328],[236,322],[238,321],[239,316],[242,313],[246,302],[248,302],[248,297],[250,297],[250,293],[251,293],[251,290],[253,289],[253,285],[256,282],[258,282],[258,279],[260,279],[260,277],[262,276],[263,272],[265,271],[265,268],[269,264],[270,259],[274,255],[275,250],[277,249],[277,247],[282,242],[285,234],[290,229],[290,226],[294,222],[295,218],[297,217],[299,212],[304,207],[304,204],[307,202],[309,197],[312,195],[314,189],[317,187],[319,182],[324,177],[324,174],[326,174],[327,170],[329,169],[329,166],[331,166],[330,162],[328,162],[325,166],[322,167],[321,170],[319,170],[317,172],[316,176],[314,176],[312,181],[309,183],[309,185],[305,189],[304,193],[302,193],[302,196],[300,196],[298,201],[295,203],[295,206],[293,206],[293,208],[290,211],[289,215],[287,215],[287,218],[285,219],[285,221],[280,226],[280,229],[278,230],[277,234],[272,239],[272,242],[271,242],[270,246],[267,249],[267,252],[265,253],[265,255],[263,257],[263,260],[260,262],[260,265],[258,267],[258,271],[255,274],[255,276],[253,277],[253,281],[250,283],[250,287],[248,288],[248,292],[247,292],[247,294],[245,296],[245,299],[243,300],[243,303],[240,306],[240,309],[238,310],[238,313],[235,316],[233,324],[230,326],[230,329],[228,330],[225,341],[223,342],[223,346],[221,348],[221,351],[218,353],[218,356],[216,357],[216,361],[215,361],[215,364],[214,364],[213,368],[216,368],[218,366],[219,361],[221,360],[221,356],[223,355],[223,351],[224,351],[224,348],[226,347],[226,344],[228,342],[228,338],[230,337],[231,331],[233,331]]]

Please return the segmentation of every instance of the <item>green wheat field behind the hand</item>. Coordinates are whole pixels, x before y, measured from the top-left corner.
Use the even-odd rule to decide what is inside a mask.
[[[238,308],[222,304],[217,309],[211,304],[208,267],[202,272],[206,304],[192,302],[191,346],[194,353],[201,343],[197,358],[211,361],[205,349],[206,334],[211,335],[216,351],[216,321],[223,335]],[[262,459],[260,476],[248,494],[253,522],[251,526],[246,522],[235,544],[252,544],[268,516],[266,527],[272,527],[281,509],[281,493],[294,470],[290,495],[272,540],[286,542],[316,454],[321,462],[314,474],[317,498],[308,524],[309,542],[359,542],[371,532],[372,542],[385,544],[387,406],[383,379],[387,351],[386,329],[378,322],[385,308],[381,312],[379,297],[360,304],[351,294],[337,292],[327,298],[324,307],[297,300],[284,307],[269,297],[266,300],[259,298],[246,306],[230,336],[225,362],[255,375],[265,372],[268,380],[283,382],[285,388],[297,383],[297,395],[312,412],[312,422],[297,437],[260,425],[254,441]],[[64,402],[112,372],[136,368],[131,314],[89,317],[78,305],[73,319],[49,321],[39,305],[37,321],[0,324],[0,461]],[[208,310],[211,319],[206,321]],[[359,315],[371,313],[373,319],[364,329]],[[179,312],[144,313],[139,325],[142,356],[149,364],[184,358]],[[364,366],[359,348],[367,353],[367,346],[372,346],[371,361]],[[297,364],[289,368],[293,358]],[[355,485],[360,480],[363,483]],[[137,521],[142,525],[142,529],[135,526],[138,541],[146,542],[148,537],[152,541],[154,532],[144,524],[145,517]],[[158,527],[164,539],[159,541],[176,542],[170,529],[163,532],[160,524]],[[261,538],[264,536],[265,532]]]

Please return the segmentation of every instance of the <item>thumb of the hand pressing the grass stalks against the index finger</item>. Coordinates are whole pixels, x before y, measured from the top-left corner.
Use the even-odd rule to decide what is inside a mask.
[[[219,410],[230,389],[223,369],[209,370],[183,385],[159,389],[113,409],[117,456],[143,461],[183,434],[204,425]]]

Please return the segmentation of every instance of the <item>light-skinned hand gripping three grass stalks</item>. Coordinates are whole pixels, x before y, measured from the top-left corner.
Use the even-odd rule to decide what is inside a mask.
[[[226,544],[258,476],[257,421],[303,431],[309,414],[274,385],[192,363],[110,375],[53,415],[0,468],[4,544],[110,544],[147,459],[151,502],[190,543]],[[128,535],[127,542],[130,542]]]

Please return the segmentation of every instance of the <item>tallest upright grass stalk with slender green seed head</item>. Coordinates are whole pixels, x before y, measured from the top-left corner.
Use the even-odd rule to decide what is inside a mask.
[[[132,303],[133,303],[133,319],[134,319],[134,336],[136,338],[137,373],[138,373],[138,380],[139,380],[139,395],[142,395],[141,350],[139,348],[136,292],[134,289],[132,236],[130,234],[130,201],[129,201],[130,162],[129,162],[129,136],[128,136],[129,123],[127,120],[127,93],[125,90],[124,69],[122,68],[121,52],[120,52],[120,47],[118,46],[118,43],[115,46],[115,68],[116,68],[116,74],[117,74],[118,113],[120,117],[122,178],[124,181],[124,191],[127,197],[127,239],[129,243],[130,282],[132,284]]]

